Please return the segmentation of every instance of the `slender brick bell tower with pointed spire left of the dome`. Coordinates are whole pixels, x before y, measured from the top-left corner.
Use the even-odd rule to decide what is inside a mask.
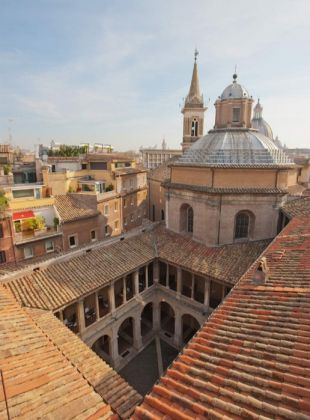
[[[182,149],[188,149],[199,137],[203,136],[204,107],[203,95],[200,94],[197,56],[195,50],[195,62],[189,93],[185,98],[182,109],[183,114],[183,143]]]

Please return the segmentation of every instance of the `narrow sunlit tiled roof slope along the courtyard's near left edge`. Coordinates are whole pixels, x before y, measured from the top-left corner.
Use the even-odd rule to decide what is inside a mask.
[[[142,401],[141,395],[51,312],[41,309],[26,311],[103,400],[121,418],[128,418]]]

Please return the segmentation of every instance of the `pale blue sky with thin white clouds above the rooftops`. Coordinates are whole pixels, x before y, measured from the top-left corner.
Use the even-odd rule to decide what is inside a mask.
[[[309,0],[0,0],[0,141],[179,148],[194,49],[214,102],[238,81],[310,147]]]

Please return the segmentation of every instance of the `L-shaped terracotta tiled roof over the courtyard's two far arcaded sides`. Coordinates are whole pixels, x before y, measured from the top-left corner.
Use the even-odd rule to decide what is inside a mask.
[[[90,253],[55,261],[39,271],[7,280],[5,286],[23,306],[56,310],[157,256],[184,269],[234,284],[268,243],[256,241],[208,248],[158,226],[113,245],[97,247]]]

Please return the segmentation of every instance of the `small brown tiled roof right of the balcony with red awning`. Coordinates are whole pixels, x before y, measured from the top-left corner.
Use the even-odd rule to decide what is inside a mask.
[[[99,214],[95,195],[58,195],[55,197],[55,206],[63,222],[72,222]]]

